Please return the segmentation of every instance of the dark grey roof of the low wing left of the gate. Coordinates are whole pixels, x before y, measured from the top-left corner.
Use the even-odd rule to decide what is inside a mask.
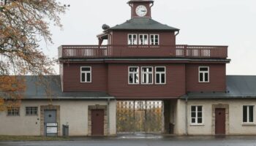
[[[62,92],[59,75],[43,77],[49,88],[40,83],[38,76],[25,76],[25,79],[26,92],[23,93],[23,99],[113,99],[104,92]]]

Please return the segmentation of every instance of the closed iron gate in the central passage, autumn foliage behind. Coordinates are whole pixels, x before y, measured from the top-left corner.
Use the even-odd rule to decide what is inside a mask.
[[[161,133],[162,101],[118,101],[117,132]]]

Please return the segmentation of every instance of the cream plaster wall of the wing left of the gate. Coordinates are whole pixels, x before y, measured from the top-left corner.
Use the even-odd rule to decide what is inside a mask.
[[[7,116],[0,112],[0,135],[39,135],[40,109],[37,116],[26,116],[26,107],[48,105],[48,101],[22,101],[20,116]],[[60,126],[69,125],[70,136],[86,136],[88,134],[88,106],[107,105],[107,101],[53,101],[60,106]],[[110,134],[116,134],[116,101],[110,101]]]

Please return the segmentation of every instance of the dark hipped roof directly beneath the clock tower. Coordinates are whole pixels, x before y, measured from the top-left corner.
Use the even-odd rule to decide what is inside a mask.
[[[179,31],[178,28],[164,25],[151,18],[132,18],[125,23],[113,26],[108,30],[158,30],[158,31]]]

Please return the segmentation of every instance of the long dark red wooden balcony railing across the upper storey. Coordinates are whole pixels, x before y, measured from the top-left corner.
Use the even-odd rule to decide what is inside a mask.
[[[227,58],[227,46],[62,45],[59,47],[59,58],[105,57]]]

